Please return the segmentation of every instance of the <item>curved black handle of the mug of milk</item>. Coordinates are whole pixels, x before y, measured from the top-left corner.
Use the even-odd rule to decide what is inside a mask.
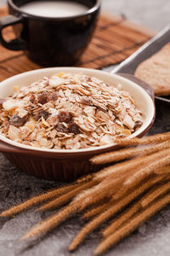
[[[10,41],[6,41],[3,38],[3,28],[7,26],[12,26],[18,23],[22,23],[22,22],[23,22],[22,17],[16,17],[14,15],[8,15],[0,19],[0,42],[3,44],[5,48],[13,49],[13,50],[26,49],[26,42],[21,38],[15,38]]]

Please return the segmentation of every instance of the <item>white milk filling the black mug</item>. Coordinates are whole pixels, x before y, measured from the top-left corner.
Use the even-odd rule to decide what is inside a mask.
[[[88,10],[88,7],[69,1],[35,1],[22,5],[20,9],[30,15],[57,18],[82,15]]]

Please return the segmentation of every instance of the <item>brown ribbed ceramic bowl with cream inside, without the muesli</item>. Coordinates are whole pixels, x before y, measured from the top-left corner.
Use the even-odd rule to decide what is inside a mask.
[[[20,73],[0,83],[0,97],[14,93],[14,86],[26,86],[43,76],[55,73],[83,73],[94,76],[108,84],[122,84],[122,89],[129,91],[137,108],[143,113],[144,124],[130,137],[143,137],[153,125],[155,119],[154,95],[150,85],[133,76],[124,78],[121,75],[79,67],[51,67]],[[133,82],[134,80],[135,82]],[[142,86],[142,87],[141,87]],[[116,144],[85,149],[48,149],[16,143],[0,135],[0,152],[20,170],[45,179],[72,181],[88,172],[96,171],[99,166],[92,166],[89,159],[95,154],[106,153],[117,148]]]

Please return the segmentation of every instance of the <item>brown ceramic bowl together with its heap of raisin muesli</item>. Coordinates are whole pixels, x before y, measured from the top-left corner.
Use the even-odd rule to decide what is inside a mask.
[[[91,157],[116,149],[117,138],[144,136],[154,122],[153,95],[135,82],[78,67],[42,68],[4,80],[0,151],[36,177],[71,181],[96,171]]]

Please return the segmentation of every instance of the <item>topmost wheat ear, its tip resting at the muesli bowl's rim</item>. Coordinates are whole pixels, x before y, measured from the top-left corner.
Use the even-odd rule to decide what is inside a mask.
[[[143,144],[150,144],[150,143],[161,143],[165,142],[168,139],[170,139],[170,131],[159,133],[156,135],[151,135],[144,138],[123,138],[123,139],[116,139],[114,142],[121,145],[121,146],[137,146],[137,145],[143,145]]]

